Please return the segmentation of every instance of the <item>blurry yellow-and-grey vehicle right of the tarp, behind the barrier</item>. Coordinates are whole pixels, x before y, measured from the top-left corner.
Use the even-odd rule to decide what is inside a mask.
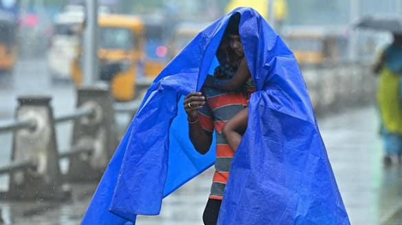
[[[339,63],[348,51],[344,27],[286,27],[282,37],[301,67]]]

